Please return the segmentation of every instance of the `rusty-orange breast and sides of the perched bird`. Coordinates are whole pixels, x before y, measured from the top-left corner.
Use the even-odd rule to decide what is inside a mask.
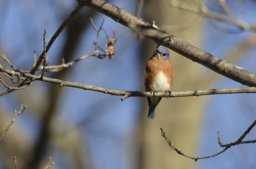
[[[168,78],[169,91],[171,90],[175,74],[174,66],[171,60],[160,59],[156,54],[148,60],[145,68],[144,84],[147,92],[152,91],[151,84],[153,84],[160,72],[163,72],[163,74]]]

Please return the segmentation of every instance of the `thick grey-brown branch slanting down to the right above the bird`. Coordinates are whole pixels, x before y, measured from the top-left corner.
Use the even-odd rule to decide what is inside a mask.
[[[200,63],[207,68],[222,74],[232,80],[235,80],[246,86],[256,86],[256,74],[248,72],[239,66],[227,63],[218,57],[213,56],[201,49],[192,46],[184,40],[181,40],[171,34],[154,28],[149,23],[135,17],[134,15],[122,10],[105,0],[77,0],[79,4],[96,9],[102,14],[111,17],[116,22],[129,27],[140,35],[148,37],[157,45],[166,46],[169,49],[189,58],[192,61]]]

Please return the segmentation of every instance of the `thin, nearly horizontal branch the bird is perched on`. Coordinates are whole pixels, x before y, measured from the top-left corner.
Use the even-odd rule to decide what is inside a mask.
[[[73,82],[59,80],[55,78],[49,78],[49,77],[40,78],[41,76],[37,76],[34,74],[14,72],[14,71],[3,69],[3,68],[0,68],[0,72],[12,74],[13,76],[28,77],[32,81],[39,80],[39,81],[44,81],[48,83],[55,83],[55,84],[58,84],[60,87],[69,86],[69,87],[74,87],[74,88],[79,88],[84,90],[102,92],[109,95],[124,96],[121,99],[122,101],[128,97],[153,97],[153,96],[155,97],[186,97],[186,96],[217,95],[217,94],[256,93],[256,87],[241,87],[241,88],[228,88],[228,89],[207,89],[207,90],[171,92],[171,95],[169,95],[168,92],[157,92],[153,94],[151,92],[122,91],[122,90],[107,89],[103,87],[90,86],[90,85],[85,85],[77,82],[73,83]]]

